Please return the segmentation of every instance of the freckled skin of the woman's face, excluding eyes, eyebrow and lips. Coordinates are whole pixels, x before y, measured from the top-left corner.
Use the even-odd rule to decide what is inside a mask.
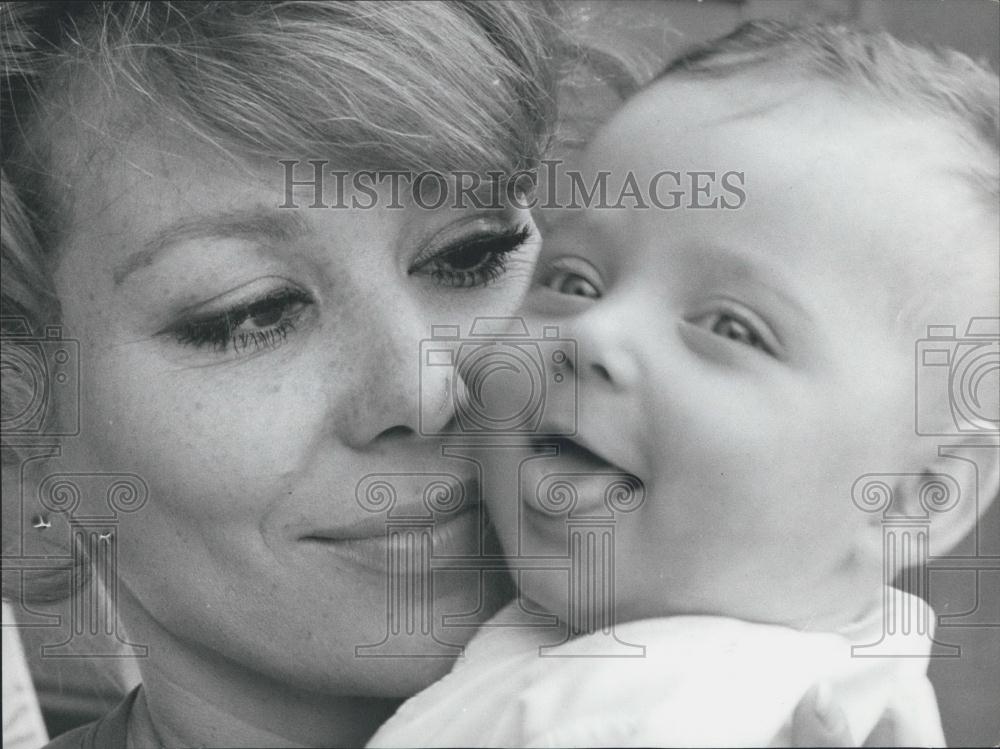
[[[192,241],[113,287],[114,269],[164,227],[263,205],[271,194],[264,166],[246,173],[188,148],[164,174],[155,168],[157,154],[187,144],[162,142],[156,133],[132,144],[123,156],[128,168],[79,177],[84,218],[54,278],[71,332],[89,352],[81,378],[88,414],[115,424],[73,443],[68,459],[134,473],[149,486],[150,501],[123,522],[117,546],[119,603],[130,634],[151,648],[197,641],[236,666],[241,682],[294,684],[319,695],[409,696],[450,664],[357,659],[355,647],[385,626],[384,573],[339,547],[303,545],[297,534],[367,519],[355,500],[362,476],[414,465],[455,470],[415,436],[413,352],[432,322],[511,314],[529,274],[512,271],[475,290],[399,268],[417,259],[411,235],[466,236],[480,224],[506,231],[530,217],[516,210],[500,218],[416,208],[312,211],[302,215],[305,231],[337,238],[303,249],[312,253],[309,269],[325,268],[318,276],[286,253],[261,255],[242,240]],[[108,243],[107,236],[122,240]],[[537,251],[537,240],[525,243],[514,267],[531,268]],[[333,276],[345,296],[309,291],[330,286]],[[231,346],[192,347],[169,334],[186,315],[277,289],[277,279],[307,292],[311,317],[274,350],[240,358]],[[106,288],[107,298],[97,291],[91,299],[88,286]],[[378,351],[373,339],[385,341]],[[443,389],[443,380],[435,387]],[[406,438],[397,430],[380,439],[395,426],[409,430]],[[464,550],[472,542],[455,544]],[[479,595],[453,578],[435,585],[434,603],[460,612]],[[179,674],[187,662],[156,666]],[[150,669],[144,674],[151,694],[161,676],[182,678],[165,670],[152,679]]]

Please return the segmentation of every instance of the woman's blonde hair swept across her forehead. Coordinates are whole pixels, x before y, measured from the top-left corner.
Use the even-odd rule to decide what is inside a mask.
[[[66,188],[52,141],[73,137],[81,95],[107,103],[112,143],[153,122],[234,160],[511,174],[547,146],[557,36],[549,6],[521,2],[0,5],[5,460],[25,430],[45,433],[15,423],[46,383],[8,354],[60,322]],[[23,521],[4,525],[6,549]]]

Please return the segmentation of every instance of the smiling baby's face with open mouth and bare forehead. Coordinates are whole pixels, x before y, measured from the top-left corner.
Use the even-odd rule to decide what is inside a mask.
[[[577,342],[577,433],[524,464],[518,505],[492,508],[508,548],[519,525],[521,555],[566,553],[572,518],[537,500],[546,476],[627,472],[645,501],[615,515],[619,620],[858,613],[880,581],[881,518],[851,486],[922,468],[914,342],[964,324],[926,318],[924,301],[947,296],[960,243],[991,236],[957,173],[964,148],[823,85],[667,81],[630,102],[584,175],[612,172],[611,203],[627,170],[643,190],[680,172],[688,191],[675,209],[571,211],[546,235],[529,304]],[[693,171],[716,173],[710,194],[692,195]],[[741,207],[687,207],[736,202],[728,171]],[[661,180],[661,203],[677,183]],[[548,418],[543,431],[571,424]],[[575,513],[603,507],[611,480],[580,479]],[[565,574],[524,573],[522,588],[565,606]]]

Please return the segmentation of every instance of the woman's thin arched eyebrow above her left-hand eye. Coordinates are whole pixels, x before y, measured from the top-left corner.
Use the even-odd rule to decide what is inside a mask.
[[[308,233],[308,224],[298,213],[265,207],[185,216],[154,232],[142,243],[142,249],[112,269],[112,278],[118,286],[129,274],[151,265],[167,247],[194,239],[247,239],[288,244]]]

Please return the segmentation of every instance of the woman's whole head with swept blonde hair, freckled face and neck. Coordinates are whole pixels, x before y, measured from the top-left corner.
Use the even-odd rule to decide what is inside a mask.
[[[419,346],[432,324],[467,331],[476,316],[514,314],[538,237],[516,205],[428,210],[404,181],[398,200],[393,187],[369,208],[330,210],[341,201],[321,201],[302,178],[314,156],[335,176],[355,163],[478,174],[537,160],[555,93],[548,13],[519,3],[209,14],[3,5],[19,35],[23,21],[25,39],[45,41],[4,103],[5,115],[11,105],[30,121],[26,135],[10,134],[19,171],[53,176],[51,195],[24,185],[52,198],[37,226],[33,211],[25,222],[25,250],[55,297],[51,310],[33,300],[32,325],[51,316],[80,352],[78,387],[65,396],[76,399],[65,408],[76,409],[79,434],[59,445],[52,470],[127,474],[148,490],[141,512],[116,527],[114,569],[98,570],[115,576],[115,614],[150,656],[137,664],[142,709],[129,743],[363,745],[392,700],[451,663],[357,657],[386,626],[390,570],[384,531],[356,487],[419,468],[459,471],[476,487],[469,461],[418,433]],[[497,34],[503,44],[491,44]],[[156,55],[140,53],[149,44]],[[339,59],[341,44],[370,49],[368,74]],[[333,54],[316,64],[324,47]],[[171,55],[185,64],[169,65]],[[506,87],[494,91],[494,77]],[[388,132],[387,116],[405,128]],[[455,122],[470,127],[459,133]],[[292,176],[282,156],[303,162],[302,200],[282,189]],[[18,210],[20,193],[11,192]],[[279,210],[288,203],[301,210]],[[443,389],[432,375],[421,382]],[[451,412],[433,417],[436,432]],[[420,491],[406,485],[400,506],[423,508]],[[87,513],[105,515],[101,492],[87,494]],[[442,546],[471,553],[479,538],[466,525]],[[465,577],[427,588],[436,614],[509,595]]]

